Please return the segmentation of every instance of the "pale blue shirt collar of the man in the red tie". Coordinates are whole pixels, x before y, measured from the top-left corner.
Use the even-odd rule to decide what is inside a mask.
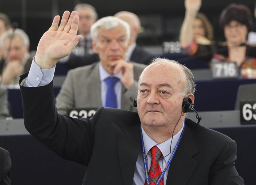
[[[165,142],[163,142],[161,144],[158,144],[152,138],[150,138],[149,135],[146,134],[146,132],[141,127],[142,135],[143,135],[143,141],[144,141],[144,149],[145,149],[146,156],[148,155],[149,150],[153,146],[157,146],[161,150],[163,156],[166,156],[167,159],[165,159],[165,161],[167,162],[170,159],[170,156],[171,156],[171,155],[168,155],[168,154],[170,154],[171,141],[172,141],[172,151],[173,151],[174,147],[176,146],[176,144],[177,144],[177,142],[179,140],[179,137],[181,136],[183,127],[185,125],[184,123],[185,123],[185,121],[183,122],[183,125],[182,125],[181,129],[179,130],[179,132],[173,136],[173,141],[172,141],[172,138],[170,138],[170,139],[166,140]]]

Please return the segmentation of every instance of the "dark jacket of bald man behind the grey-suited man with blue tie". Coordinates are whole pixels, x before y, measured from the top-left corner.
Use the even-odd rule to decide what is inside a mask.
[[[153,53],[150,53],[145,48],[136,44],[136,47],[132,52],[130,60],[133,62],[136,62],[136,63],[148,65],[148,64],[150,64],[151,60],[154,57],[156,57],[156,55],[153,55]]]

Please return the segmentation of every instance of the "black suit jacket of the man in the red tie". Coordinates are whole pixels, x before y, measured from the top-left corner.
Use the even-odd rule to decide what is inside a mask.
[[[137,112],[101,107],[91,120],[59,115],[52,82],[41,87],[21,86],[21,95],[26,129],[62,158],[86,165],[84,185],[132,184],[141,154]],[[243,184],[235,159],[235,141],[186,120],[166,184]]]

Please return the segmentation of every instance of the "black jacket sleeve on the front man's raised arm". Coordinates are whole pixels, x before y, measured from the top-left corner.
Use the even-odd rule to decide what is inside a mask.
[[[94,143],[94,121],[58,114],[53,82],[41,87],[20,86],[20,89],[28,132],[63,159],[88,165]],[[98,113],[94,116],[96,120]]]

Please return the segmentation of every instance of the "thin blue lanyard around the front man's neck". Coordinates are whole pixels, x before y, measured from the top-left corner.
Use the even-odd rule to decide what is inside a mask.
[[[157,182],[156,182],[156,185],[158,185],[160,183],[160,181],[162,180],[167,168],[169,167],[169,165],[171,164],[172,160],[173,160],[173,156],[179,146],[179,142],[181,141],[181,137],[182,137],[182,134],[183,134],[183,131],[184,131],[184,127],[185,125],[183,126],[183,129],[182,129],[182,133],[181,133],[181,136],[179,137],[179,140],[173,150],[173,153],[170,157],[170,160],[168,161],[168,163],[166,164],[162,174],[160,175],[160,177],[158,178]],[[146,162],[146,154],[145,154],[145,148],[144,148],[144,142],[143,142],[143,135],[142,135],[142,129],[141,129],[141,125],[140,125],[140,134],[141,134],[141,141],[142,141],[142,153],[143,153],[143,162],[144,162],[144,170],[145,170],[145,176],[146,176],[146,184],[147,185],[150,185],[150,181],[149,181],[149,178],[148,178],[148,164]]]

